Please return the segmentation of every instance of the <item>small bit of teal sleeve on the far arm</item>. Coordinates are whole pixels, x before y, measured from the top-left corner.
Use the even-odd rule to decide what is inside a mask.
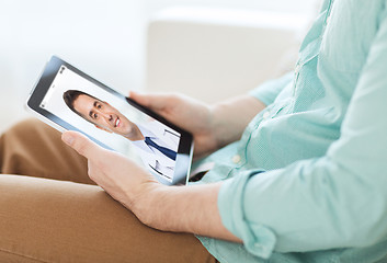
[[[281,93],[281,91],[293,82],[293,72],[286,73],[278,79],[264,82],[263,84],[250,91],[249,94],[263,102],[263,104],[270,105],[274,102],[275,98]]]

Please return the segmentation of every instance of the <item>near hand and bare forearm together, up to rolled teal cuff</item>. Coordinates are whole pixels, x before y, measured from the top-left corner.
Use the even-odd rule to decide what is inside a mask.
[[[221,224],[217,208],[220,183],[166,186],[124,156],[103,149],[77,132],[62,140],[88,158],[89,176],[149,227],[240,242]]]

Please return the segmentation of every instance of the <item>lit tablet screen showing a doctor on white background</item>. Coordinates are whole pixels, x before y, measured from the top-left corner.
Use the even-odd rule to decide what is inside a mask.
[[[172,183],[181,134],[125,99],[61,66],[39,106]]]

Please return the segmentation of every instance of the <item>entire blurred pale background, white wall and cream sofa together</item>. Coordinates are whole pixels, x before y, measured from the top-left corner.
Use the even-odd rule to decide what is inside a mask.
[[[292,68],[318,2],[0,0],[0,130],[29,116],[24,102],[52,55],[124,94],[213,103],[244,92]]]

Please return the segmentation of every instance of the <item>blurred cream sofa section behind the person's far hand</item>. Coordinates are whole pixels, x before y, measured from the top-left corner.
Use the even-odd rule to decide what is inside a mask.
[[[276,77],[306,18],[203,8],[159,12],[147,31],[146,90],[215,102]],[[293,65],[293,62],[291,62]]]

